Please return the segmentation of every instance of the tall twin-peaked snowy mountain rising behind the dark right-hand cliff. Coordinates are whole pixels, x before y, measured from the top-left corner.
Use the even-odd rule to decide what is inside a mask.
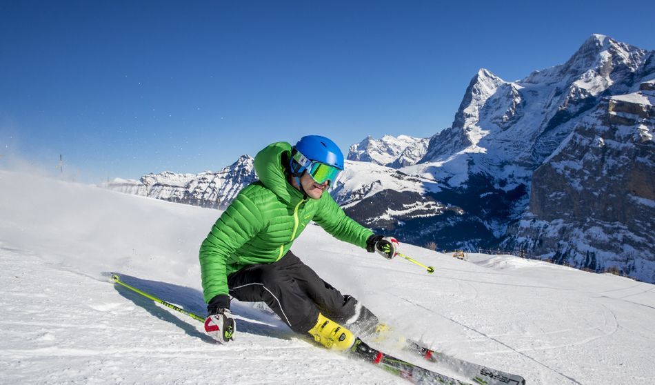
[[[467,175],[525,183],[603,97],[634,92],[652,77],[652,58],[653,51],[594,34],[566,63],[520,81],[480,70],[452,127],[432,137],[415,170],[432,174],[431,166],[456,163]],[[461,167],[433,176],[462,184]]]

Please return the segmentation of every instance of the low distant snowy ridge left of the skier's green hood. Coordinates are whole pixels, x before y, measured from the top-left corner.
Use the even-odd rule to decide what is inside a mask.
[[[206,208],[225,208],[241,188],[256,180],[254,159],[242,155],[234,164],[219,172],[177,174],[160,172],[141,179],[117,178],[102,184],[103,188]]]

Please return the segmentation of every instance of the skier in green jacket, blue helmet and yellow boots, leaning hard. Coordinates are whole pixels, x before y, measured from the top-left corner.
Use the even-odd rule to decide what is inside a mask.
[[[256,155],[254,169],[259,181],[239,192],[200,248],[205,331],[223,344],[232,339],[231,295],[265,302],[296,333],[309,333],[327,348],[350,348],[354,333],[372,333],[377,317],[323,281],[291,245],[312,220],[387,259],[398,253],[398,241],[347,217],[325,192],[343,170],[343,154],[330,139],[310,135],[293,147],[270,144]]]

